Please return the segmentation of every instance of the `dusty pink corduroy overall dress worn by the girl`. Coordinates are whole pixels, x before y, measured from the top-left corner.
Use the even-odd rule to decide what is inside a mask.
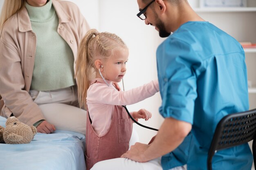
[[[132,120],[124,107],[113,105],[110,128],[104,136],[99,137],[94,132],[89,112],[87,112],[86,123],[85,163],[87,170],[99,161],[119,158],[128,151],[132,135]]]

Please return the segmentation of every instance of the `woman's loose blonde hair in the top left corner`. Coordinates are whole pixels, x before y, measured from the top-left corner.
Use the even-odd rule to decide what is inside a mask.
[[[25,4],[26,0],[4,0],[0,15],[0,29],[13,14],[17,13]]]

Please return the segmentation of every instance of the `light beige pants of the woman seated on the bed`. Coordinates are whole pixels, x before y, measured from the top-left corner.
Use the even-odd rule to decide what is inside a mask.
[[[56,130],[69,130],[85,134],[86,110],[77,105],[77,95],[73,87],[51,91],[30,90],[30,96],[40,107],[46,121]]]

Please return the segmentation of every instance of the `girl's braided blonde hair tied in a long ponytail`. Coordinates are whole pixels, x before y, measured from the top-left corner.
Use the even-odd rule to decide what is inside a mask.
[[[98,71],[94,65],[95,60],[106,61],[114,50],[124,48],[127,49],[125,43],[115,34],[99,33],[96,29],[90,29],[85,34],[79,45],[75,71],[80,107],[86,108],[90,79],[95,78]]]

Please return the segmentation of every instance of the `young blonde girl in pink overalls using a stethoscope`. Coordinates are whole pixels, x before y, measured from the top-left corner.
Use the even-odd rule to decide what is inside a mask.
[[[128,48],[115,34],[90,29],[81,40],[76,80],[80,107],[87,107],[87,169],[98,161],[118,158],[128,150],[132,121],[122,105],[137,103],[159,92],[158,81],[126,92],[115,88],[113,83],[120,82],[126,73],[128,54]],[[145,109],[131,115],[134,119],[151,118]]]

